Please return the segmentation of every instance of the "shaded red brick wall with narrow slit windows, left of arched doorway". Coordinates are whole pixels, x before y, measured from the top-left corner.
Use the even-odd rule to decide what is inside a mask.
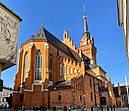
[[[91,85],[90,85],[91,79]],[[90,74],[84,75],[84,82],[83,82],[83,91],[84,91],[84,105],[86,106],[99,106],[100,105],[100,94],[99,94],[99,87],[101,87],[101,80],[95,78]],[[99,86],[98,86],[99,85]],[[91,100],[91,93],[92,93],[92,100]],[[96,98],[96,102],[95,102]]]

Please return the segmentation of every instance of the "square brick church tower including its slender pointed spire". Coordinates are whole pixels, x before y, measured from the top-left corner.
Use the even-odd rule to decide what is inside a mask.
[[[80,40],[79,49],[82,50],[82,53],[91,59],[91,64],[96,64],[96,47],[94,46],[94,38],[90,36],[88,31],[87,17],[86,17],[86,8],[84,7],[84,33],[82,39]]]

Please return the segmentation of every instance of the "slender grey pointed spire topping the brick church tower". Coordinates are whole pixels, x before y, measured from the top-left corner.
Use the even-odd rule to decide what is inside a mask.
[[[83,16],[83,20],[84,20],[84,33],[83,33],[83,35],[89,37],[87,17],[86,17],[86,6],[85,5],[84,5],[84,16]]]

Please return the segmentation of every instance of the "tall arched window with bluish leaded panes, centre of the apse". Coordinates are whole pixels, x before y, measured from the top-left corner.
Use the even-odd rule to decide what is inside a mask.
[[[35,80],[42,80],[42,53],[36,52]]]

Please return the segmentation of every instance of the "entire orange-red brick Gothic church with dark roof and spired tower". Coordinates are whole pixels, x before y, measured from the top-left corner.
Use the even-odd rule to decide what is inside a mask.
[[[64,107],[115,105],[113,85],[97,65],[94,38],[84,32],[77,48],[64,31],[59,40],[42,27],[19,51],[13,106]]]

